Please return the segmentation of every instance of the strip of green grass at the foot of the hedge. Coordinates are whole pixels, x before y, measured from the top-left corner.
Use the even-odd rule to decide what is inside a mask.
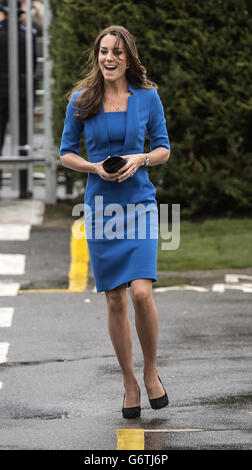
[[[169,227],[171,230],[171,228]],[[158,270],[187,271],[252,266],[252,219],[211,219],[180,224],[180,246],[162,250]]]

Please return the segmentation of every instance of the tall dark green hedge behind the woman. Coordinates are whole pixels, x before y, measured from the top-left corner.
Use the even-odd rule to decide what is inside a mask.
[[[189,217],[248,212],[251,2],[51,0],[51,7],[56,144],[64,95],[82,76],[83,51],[100,30],[122,24],[134,34],[141,62],[159,85],[167,118],[171,158],[150,169],[158,200],[180,203],[182,215]]]

